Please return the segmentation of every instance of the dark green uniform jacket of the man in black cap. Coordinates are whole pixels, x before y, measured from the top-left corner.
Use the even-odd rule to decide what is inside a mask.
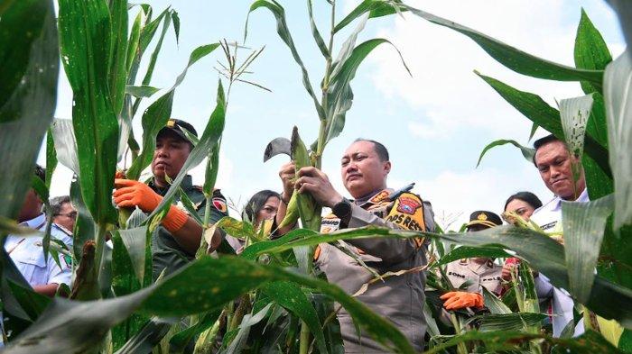
[[[153,180],[148,184],[159,195],[165,195],[169,188],[161,188],[153,183]],[[200,186],[193,186],[190,175],[187,175],[182,180],[181,188],[184,193],[189,196],[191,202],[198,211],[198,214],[204,219],[204,209],[206,207],[206,198],[202,193]],[[219,192],[218,189],[213,191],[213,207],[210,208],[210,223],[218,222],[224,216],[228,216],[228,209],[226,206],[226,198]],[[180,196],[173,197],[173,204],[181,204]],[[184,209],[182,209],[184,210]],[[188,213],[184,210],[185,213]],[[224,235],[222,234],[222,237]],[[165,276],[173,273],[186,266],[191,260],[195,259],[195,254],[191,254],[182,249],[178,241],[175,241],[171,232],[167,231],[162,225],[158,227],[158,231],[153,234],[152,238],[152,262],[153,262],[153,280],[156,280],[163,269],[165,270]]]

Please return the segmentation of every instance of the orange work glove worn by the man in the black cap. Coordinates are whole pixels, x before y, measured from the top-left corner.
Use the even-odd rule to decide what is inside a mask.
[[[163,197],[153,191],[152,188],[143,182],[133,179],[116,178],[114,180],[116,191],[114,192],[114,203],[118,207],[138,206],[145,213],[151,213],[163,201]],[[167,216],[161,222],[165,229],[170,232],[178,231],[189,219],[187,213],[172,205]]]

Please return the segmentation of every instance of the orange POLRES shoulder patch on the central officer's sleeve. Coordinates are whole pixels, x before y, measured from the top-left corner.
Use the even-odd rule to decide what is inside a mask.
[[[422,198],[413,193],[403,193],[397,197],[390,213],[386,216],[387,222],[393,222],[404,230],[425,231],[426,226],[423,219]],[[417,247],[422,247],[424,240],[415,240]]]

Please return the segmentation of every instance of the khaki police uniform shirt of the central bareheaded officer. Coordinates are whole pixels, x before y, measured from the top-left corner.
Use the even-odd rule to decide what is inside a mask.
[[[414,194],[404,193],[392,202],[390,190],[376,193],[366,203],[352,204],[349,221],[330,214],[322,219],[321,232],[358,228],[367,225],[390,229],[432,231],[432,206],[423,203]],[[322,243],[316,250],[316,266],[327,276],[330,283],[340,286],[347,294],[354,295],[374,275],[362,267],[356,259],[339,250],[349,252],[374,268],[378,274],[426,265],[425,242],[413,239],[374,238]],[[416,350],[423,350],[426,322],[423,317],[425,274],[411,272],[401,276],[385,277],[376,281],[356,298],[372,311],[393,322],[404,333]],[[366,333],[358,333],[349,313],[342,308],[338,314],[346,353],[383,353],[386,350]]]

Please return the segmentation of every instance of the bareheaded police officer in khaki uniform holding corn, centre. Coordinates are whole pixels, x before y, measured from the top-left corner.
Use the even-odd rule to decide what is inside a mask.
[[[283,180],[283,203],[277,213],[277,222],[283,220],[284,203],[297,193],[314,197],[317,203],[330,207],[332,213],[322,219],[321,231],[358,228],[367,225],[391,229],[430,231],[434,228],[432,208],[423,203],[418,195],[407,191],[394,192],[386,187],[386,177],[391,162],[386,148],[376,142],[358,140],[345,151],[341,160],[341,176],[344,186],[355,200],[343,198],[331,186],[329,178],[318,168],[301,168],[295,183],[293,165],[284,165],[280,176]],[[417,350],[423,350],[426,322],[423,318],[423,287],[426,265],[423,240],[373,239],[323,243],[317,248],[316,266],[327,276],[330,283],[340,286],[347,294],[354,295],[375,277],[359,264],[362,260],[376,272],[414,269],[401,276],[386,277],[368,285],[357,295],[375,313],[393,322]],[[350,252],[350,257],[345,251]],[[383,353],[385,349],[366,333],[358,333],[349,313],[338,313],[342,339],[346,353]]]

